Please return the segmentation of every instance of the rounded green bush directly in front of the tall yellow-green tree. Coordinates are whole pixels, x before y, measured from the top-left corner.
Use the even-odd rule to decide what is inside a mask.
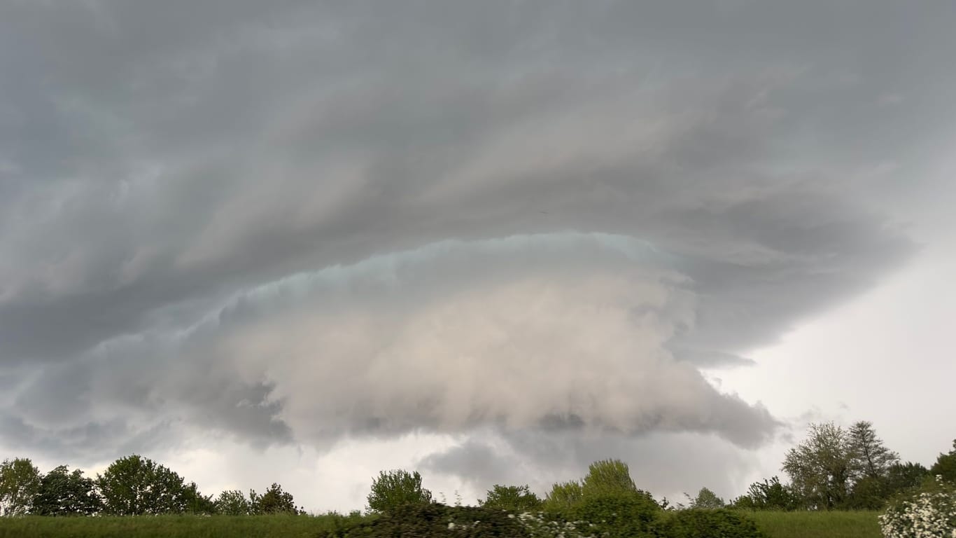
[[[573,521],[595,526],[604,538],[640,538],[654,536],[663,509],[653,499],[636,492],[585,495],[568,515]]]

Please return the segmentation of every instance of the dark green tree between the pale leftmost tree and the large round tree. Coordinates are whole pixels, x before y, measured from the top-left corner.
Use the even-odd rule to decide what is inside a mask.
[[[88,516],[102,508],[93,479],[79,469],[71,473],[66,465],[43,475],[33,497],[33,513],[40,516]]]

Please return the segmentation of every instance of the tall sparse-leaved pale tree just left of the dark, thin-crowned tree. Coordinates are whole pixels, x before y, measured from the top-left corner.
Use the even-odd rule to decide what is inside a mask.
[[[811,424],[807,438],[787,453],[783,470],[808,507],[833,510],[846,501],[857,461],[843,428],[833,422]]]

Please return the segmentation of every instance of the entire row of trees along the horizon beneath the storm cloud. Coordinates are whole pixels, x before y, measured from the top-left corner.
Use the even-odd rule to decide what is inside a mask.
[[[597,461],[581,480],[555,483],[544,498],[527,485],[494,485],[483,507],[513,512],[567,512],[580,508],[600,492],[629,491],[641,506],[663,510],[681,508],[741,508],[749,510],[882,509],[890,499],[935,477],[956,483],[956,440],[953,448],[926,468],[902,462],[877,436],[870,422],[850,428],[833,423],[812,424],[808,436],[794,446],[782,463],[790,479],[779,477],[750,484],[743,495],[725,502],[706,487],[686,504],[655,501],[639,489],[627,465],[619,460]],[[650,503],[650,504],[648,504]],[[435,504],[422,487],[418,472],[381,472],[373,479],[368,511],[382,513],[404,504]],[[460,504],[460,503],[459,503]],[[96,479],[61,465],[41,474],[29,459],[0,464],[0,515],[144,515],[144,514],[302,514],[293,495],[272,483],[263,493],[224,491],[213,498],[200,493],[195,482],[185,482],[167,467],[132,455],[114,461]],[[355,514],[355,513],[354,513]]]

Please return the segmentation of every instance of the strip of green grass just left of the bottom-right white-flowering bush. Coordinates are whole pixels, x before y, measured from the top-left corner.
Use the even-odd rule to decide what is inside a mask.
[[[880,512],[748,512],[771,538],[882,538]]]

